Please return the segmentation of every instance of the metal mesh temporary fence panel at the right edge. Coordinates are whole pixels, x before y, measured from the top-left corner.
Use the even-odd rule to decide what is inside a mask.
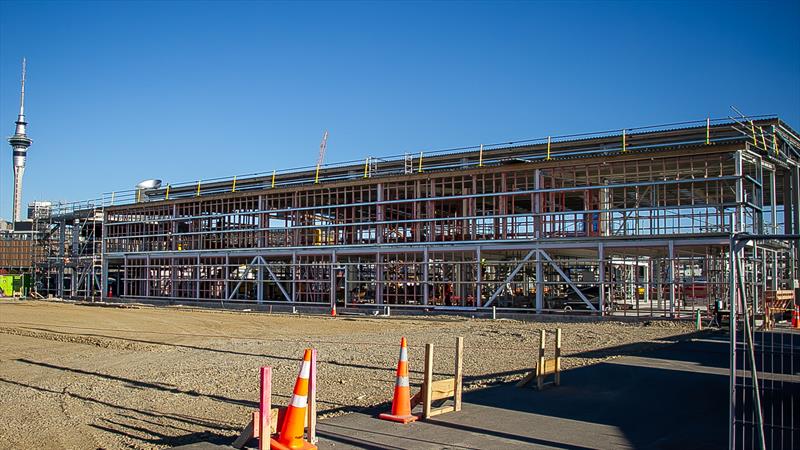
[[[764,308],[762,301],[769,288],[783,289],[794,297],[797,286],[781,280],[780,271],[759,269],[762,265],[753,257],[759,246],[788,246],[798,240],[798,234],[731,238],[731,449],[788,450],[800,445],[800,332],[785,327],[763,330],[772,322],[766,315],[774,311]],[[794,297],[789,309],[796,308],[796,302]],[[781,316],[777,320],[786,319]]]

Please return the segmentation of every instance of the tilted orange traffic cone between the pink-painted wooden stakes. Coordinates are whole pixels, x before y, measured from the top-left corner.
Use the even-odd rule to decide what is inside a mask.
[[[311,374],[311,349],[306,349],[303,355],[303,364],[300,374],[294,385],[294,394],[283,424],[278,434],[278,439],[269,440],[272,450],[316,450],[317,446],[303,439],[306,424],[306,406],[308,405],[308,377]]]

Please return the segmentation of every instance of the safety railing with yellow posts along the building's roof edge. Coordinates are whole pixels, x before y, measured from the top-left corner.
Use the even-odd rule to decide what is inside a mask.
[[[774,115],[758,115],[743,118],[742,120],[750,124],[756,120],[773,119]],[[691,144],[721,144],[725,142],[741,141],[748,136],[715,136],[719,131],[720,126],[736,126],[741,123],[739,120],[731,120],[729,118],[722,119],[705,119],[685,122],[673,122],[661,125],[632,127],[625,129],[615,129],[591,133],[579,133],[560,136],[547,136],[534,139],[523,139],[517,141],[500,142],[494,144],[480,144],[470,145],[463,147],[453,147],[440,150],[429,150],[418,152],[417,160],[413,163],[416,167],[416,172],[423,171],[440,171],[450,170],[454,168],[470,168],[482,167],[486,165],[494,165],[506,162],[508,160],[516,161],[537,161],[549,160],[552,158],[570,158],[570,157],[586,157],[601,154],[613,154],[628,151],[644,151],[644,150],[657,150],[663,147],[674,147],[679,145]],[[675,140],[660,143],[641,143],[634,144],[633,141],[637,137],[641,137],[647,133],[658,131],[670,131],[676,129],[699,129],[705,127],[706,132],[702,132],[697,136],[692,136],[689,139],[676,137]],[[723,128],[727,129],[727,128]],[[765,150],[770,151],[775,149],[774,146],[775,132],[772,129],[764,130],[758,129],[753,125],[753,140],[756,147],[763,147]],[[575,143],[584,140],[597,139],[597,138],[618,138],[615,144],[599,144],[594,147],[581,147],[577,150],[558,149],[555,150],[555,145],[566,143]],[[508,155],[495,155],[494,151],[502,150],[513,147],[532,147],[540,146],[541,149],[535,151],[522,151],[514,152],[513,156]],[[411,154],[416,155],[417,152]],[[446,160],[437,162],[436,159],[440,157],[447,157],[453,155],[469,155],[468,158],[458,158],[456,160]],[[100,197],[90,200],[75,201],[75,202],[57,202],[53,205],[53,214],[67,215],[74,214],[78,211],[93,208],[104,208],[118,205],[126,205],[132,203],[139,203],[142,201],[157,201],[169,200],[175,198],[186,197],[199,197],[206,195],[242,192],[247,190],[262,190],[268,188],[284,188],[299,185],[313,185],[319,182],[332,182],[342,180],[354,180],[364,178],[365,176],[389,176],[407,173],[407,154],[393,155],[380,158],[380,163],[377,164],[374,170],[370,169],[370,160],[375,158],[367,158],[366,162],[359,160],[350,160],[337,163],[324,164],[320,166],[320,174],[316,174],[316,165],[295,167],[290,169],[276,169],[266,172],[254,172],[248,174],[239,174],[231,177],[216,177],[205,180],[195,180],[180,183],[168,183],[165,187],[153,190],[141,189],[127,189],[114,192],[105,192]],[[433,161],[431,161],[433,159]],[[376,159],[377,161],[377,159]],[[367,167],[367,170],[362,170],[361,167]],[[381,166],[386,167],[381,169]],[[339,173],[335,173],[339,169]],[[341,172],[341,169],[352,169]],[[260,180],[253,183],[254,179]]]

